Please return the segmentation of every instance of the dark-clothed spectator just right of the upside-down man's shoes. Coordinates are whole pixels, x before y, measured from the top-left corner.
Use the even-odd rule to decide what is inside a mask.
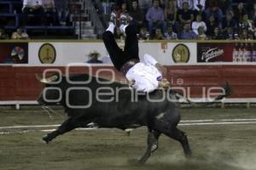
[[[143,26],[144,15],[143,11],[137,5],[137,0],[132,0],[129,14],[132,18],[132,22],[137,24],[138,30],[140,30],[140,28]]]

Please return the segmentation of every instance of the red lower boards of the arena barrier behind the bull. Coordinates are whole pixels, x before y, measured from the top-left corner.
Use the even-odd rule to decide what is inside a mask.
[[[113,70],[112,66],[92,66],[91,75],[101,69]],[[2,104],[35,104],[44,84],[38,82],[36,74],[43,75],[44,70],[55,69],[66,74],[62,66],[1,66],[0,69],[0,102]],[[193,65],[193,66],[166,66],[167,79],[174,88],[184,88],[187,96],[193,99],[206,98],[209,88],[220,87],[229,82],[232,88],[231,96],[224,102],[255,102],[256,99],[256,65]],[[114,70],[113,70],[114,71]],[[69,74],[88,73],[88,68],[73,67]],[[116,73],[115,80],[125,82],[125,77]],[[47,76],[52,74],[49,71]],[[110,71],[99,72],[100,77],[111,79]],[[214,91],[214,90],[213,90]],[[31,102],[29,102],[31,101]]]

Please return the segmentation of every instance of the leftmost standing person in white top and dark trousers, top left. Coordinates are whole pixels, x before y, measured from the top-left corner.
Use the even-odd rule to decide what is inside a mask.
[[[34,14],[37,16],[35,20],[32,21],[32,23],[29,24],[38,24],[42,25],[44,24],[44,8],[42,4],[42,0],[23,0],[23,8],[22,8],[23,14],[24,14],[24,24],[28,24],[28,16],[27,14]]]

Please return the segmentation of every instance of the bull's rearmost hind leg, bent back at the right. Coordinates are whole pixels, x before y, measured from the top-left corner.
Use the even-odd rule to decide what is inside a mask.
[[[181,130],[177,129],[177,127],[172,128],[172,130],[169,130],[167,133],[165,133],[167,136],[171,137],[172,139],[175,139],[180,142],[183,146],[183,150],[185,153],[185,156],[187,158],[190,158],[192,155],[192,152],[190,150],[189,146],[189,140],[185,133],[183,133]]]

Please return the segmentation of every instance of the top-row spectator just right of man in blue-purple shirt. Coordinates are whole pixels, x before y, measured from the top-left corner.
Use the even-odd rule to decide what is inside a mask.
[[[177,21],[177,1],[176,0],[167,0],[165,8],[165,18],[166,24],[171,24],[175,26]]]

